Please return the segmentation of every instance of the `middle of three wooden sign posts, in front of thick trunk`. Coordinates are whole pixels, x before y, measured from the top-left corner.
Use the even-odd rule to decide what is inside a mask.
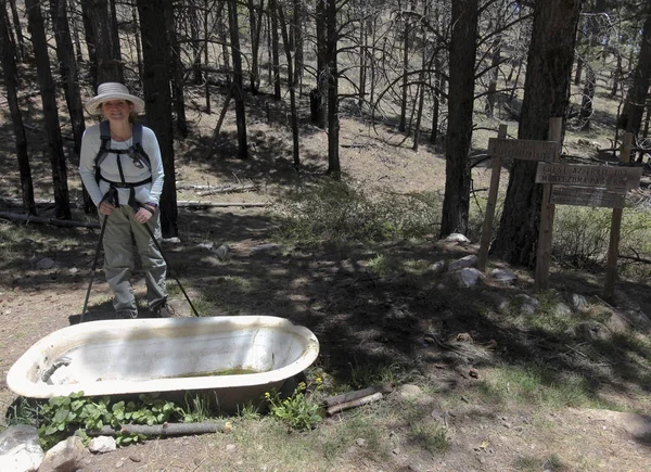
[[[563,118],[549,119],[549,140],[559,143],[554,161],[559,160],[561,139],[563,135]],[[538,251],[536,257],[535,289],[547,290],[549,285],[549,261],[551,259],[551,235],[553,232],[553,214],[556,205],[551,204],[551,183],[542,184],[542,204],[540,207],[540,233],[538,234]]]

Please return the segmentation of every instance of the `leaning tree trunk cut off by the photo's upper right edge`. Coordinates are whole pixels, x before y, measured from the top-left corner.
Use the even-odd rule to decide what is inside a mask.
[[[618,123],[621,128],[633,132],[635,136],[640,131],[642,114],[649,94],[649,84],[651,82],[651,12],[648,11],[642,28],[641,43],[638,63],[633,76],[633,86],[628,89],[624,111]]]

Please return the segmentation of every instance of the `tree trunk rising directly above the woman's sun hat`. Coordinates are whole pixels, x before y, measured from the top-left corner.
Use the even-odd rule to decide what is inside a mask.
[[[89,26],[94,40],[97,84],[124,82],[124,68],[119,56],[119,38],[113,28],[111,5],[107,0],[87,0]],[[142,16],[141,16],[142,20]],[[158,25],[158,28],[161,25]]]

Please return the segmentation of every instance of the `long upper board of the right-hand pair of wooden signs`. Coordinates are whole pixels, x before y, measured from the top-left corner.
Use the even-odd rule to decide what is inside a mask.
[[[629,190],[639,187],[641,177],[641,167],[539,163],[536,183]]]

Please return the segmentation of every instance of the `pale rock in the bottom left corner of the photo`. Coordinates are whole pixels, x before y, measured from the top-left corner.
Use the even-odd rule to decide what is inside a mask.
[[[16,424],[0,434],[0,464],[3,472],[37,471],[43,457],[35,428]]]

